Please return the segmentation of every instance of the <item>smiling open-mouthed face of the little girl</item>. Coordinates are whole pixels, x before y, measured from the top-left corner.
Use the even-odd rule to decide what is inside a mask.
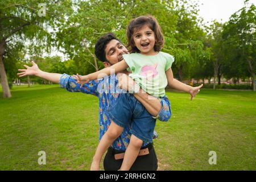
[[[156,55],[154,50],[155,34],[147,25],[143,26],[133,34],[135,46],[143,55]]]

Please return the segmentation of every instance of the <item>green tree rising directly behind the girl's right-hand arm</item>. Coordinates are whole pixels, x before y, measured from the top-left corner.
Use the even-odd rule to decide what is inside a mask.
[[[171,44],[167,44],[167,51],[175,56],[175,65],[179,80],[183,77],[191,77],[192,65],[199,61],[203,55],[203,39],[205,33],[200,28],[202,19],[198,18],[198,5],[189,1],[175,1],[174,14],[176,26],[172,31],[173,39]],[[165,51],[165,50],[164,50]],[[175,69],[174,68],[174,69]],[[185,72],[184,72],[185,71]]]

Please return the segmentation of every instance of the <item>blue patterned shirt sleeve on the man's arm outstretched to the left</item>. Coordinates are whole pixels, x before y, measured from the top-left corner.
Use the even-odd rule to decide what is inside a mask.
[[[68,92],[82,92],[98,96],[98,83],[99,80],[91,80],[80,88],[81,85],[77,84],[76,80],[72,76],[64,73],[60,77],[60,87],[65,88]]]

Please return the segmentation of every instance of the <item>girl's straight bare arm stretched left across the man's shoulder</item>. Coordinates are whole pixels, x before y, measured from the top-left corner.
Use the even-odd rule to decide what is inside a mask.
[[[77,80],[77,82],[86,83],[86,82],[89,82],[90,80],[96,80],[98,78],[109,76],[110,74],[121,72],[127,68],[129,68],[129,66],[127,65],[125,60],[122,60],[119,63],[112,65],[111,67],[101,69],[100,71],[90,73],[89,75],[81,76],[80,78],[77,78],[75,75],[73,76]]]

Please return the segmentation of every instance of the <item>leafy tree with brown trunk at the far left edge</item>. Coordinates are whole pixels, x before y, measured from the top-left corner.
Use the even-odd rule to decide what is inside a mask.
[[[25,42],[39,46],[40,51],[49,51],[53,42],[49,30],[64,22],[64,16],[72,9],[69,1],[41,3],[39,0],[1,1],[0,7],[0,77],[5,98],[11,97],[3,64],[6,53],[10,56],[15,52],[8,51],[20,51]]]

